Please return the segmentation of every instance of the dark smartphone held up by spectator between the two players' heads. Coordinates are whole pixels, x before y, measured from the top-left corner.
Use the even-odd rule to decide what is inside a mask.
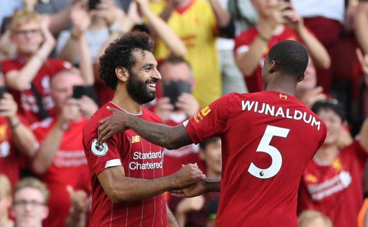
[[[191,84],[184,81],[164,81],[163,92],[163,96],[168,97],[170,103],[175,107],[175,103],[182,93],[191,92]]]

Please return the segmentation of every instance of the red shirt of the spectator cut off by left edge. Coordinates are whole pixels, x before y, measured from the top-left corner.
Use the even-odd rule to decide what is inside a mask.
[[[18,115],[23,124],[28,123]],[[6,117],[0,117],[0,174],[5,174],[11,185],[19,180],[21,153],[14,147],[11,127]]]

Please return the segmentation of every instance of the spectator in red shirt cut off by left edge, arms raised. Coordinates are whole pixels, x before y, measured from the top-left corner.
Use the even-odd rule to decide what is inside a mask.
[[[11,185],[20,178],[22,157],[32,157],[35,136],[28,128],[28,121],[17,114],[17,103],[9,93],[2,93],[4,78],[0,73],[0,173],[5,174]]]

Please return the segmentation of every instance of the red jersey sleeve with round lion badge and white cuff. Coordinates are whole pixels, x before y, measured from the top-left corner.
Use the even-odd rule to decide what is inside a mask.
[[[92,121],[93,119],[91,119]],[[106,142],[98,143],[98,121],[88,122],[83,130],[83,144],[93,172],[98,175],[102,170],[121,166],[119,153],[119,136],[113,135]]]

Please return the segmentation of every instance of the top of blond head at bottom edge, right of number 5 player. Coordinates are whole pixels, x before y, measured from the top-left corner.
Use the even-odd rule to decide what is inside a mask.
[[[333,227],[331,220],[315,210],[305,210],[298,216],[298,227]]]

